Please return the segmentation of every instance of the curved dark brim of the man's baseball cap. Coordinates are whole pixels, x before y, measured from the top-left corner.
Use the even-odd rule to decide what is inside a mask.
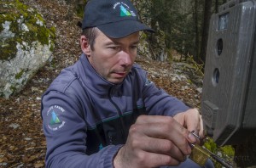
[[[153,29],[149,28],[147,25],[138,22],[137,20],[123,20],[104,25],[97,25],[96,27],[106,36],[112,38],[122,38],[125,36],[129,36],[137,31],[155,32]]]

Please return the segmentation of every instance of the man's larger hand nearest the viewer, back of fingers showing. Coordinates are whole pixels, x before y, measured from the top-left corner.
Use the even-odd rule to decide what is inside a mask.
[[[191,153],[195,137],[169,116],[141,115],[113,160],[115,168],[178,165]]]

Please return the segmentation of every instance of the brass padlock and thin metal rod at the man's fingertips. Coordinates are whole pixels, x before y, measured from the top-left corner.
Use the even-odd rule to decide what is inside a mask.
[[[201,140],[201,137],[195,134],[195,132],[191,132],[195,137]],[[207,163],[208,159],[213,159],[218,161],[221,165],[223,165],[226,168],[232,168],[233,166],[230,164],[230,162],[220,158],[218,155],[213,154],[211,151],[209,151],[207,148],[202,148],[198,144],[192,144],[190,143],[190,146],[192,148],[192,153],[189,155],[190,160],[193,160],[198,165],[204,166]]]

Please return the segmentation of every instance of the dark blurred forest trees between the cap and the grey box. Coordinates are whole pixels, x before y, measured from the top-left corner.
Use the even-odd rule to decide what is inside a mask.
[[[166,48],[197,63],[205,61],[211,15],[225,0],[152,0],[152,27],[158,22],[166,34]]]

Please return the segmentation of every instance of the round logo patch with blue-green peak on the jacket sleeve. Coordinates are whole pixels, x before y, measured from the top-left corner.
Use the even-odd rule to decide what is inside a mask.
[[[65,120],[61,120],[61,115],[65,113],[65,109],[58,105],[50,106],[47,111],[47,117],[49,120],[48,128],[51,131],[57,131],[61,127],[65,126]]]

